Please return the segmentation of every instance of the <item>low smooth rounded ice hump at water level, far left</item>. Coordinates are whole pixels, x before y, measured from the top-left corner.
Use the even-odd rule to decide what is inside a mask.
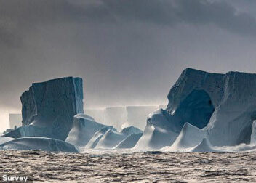
[[[50,152],[76,152],[73,145],[58,139],[23,137],[0,145],[0,150],[44,150]]]

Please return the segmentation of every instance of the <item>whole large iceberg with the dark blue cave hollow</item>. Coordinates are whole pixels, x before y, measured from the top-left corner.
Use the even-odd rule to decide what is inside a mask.
[[[255,137],[251,137],[251,134],[252,122],[256,119],[255,88],[256,74],[207,73],[187,68],[169,91],[167,109],[148,116],[143,137],[135,147],[143,150],[171,146],[186,122],[198,130],[188,128],[188,125],[185,125],[185,129],[203,131],[199,134],[207,136],[193,143],[199,134],[182,131],[190,137],[183,145],[201,142],[195,151],[210,145],[249,144],[251,139],[254,142]],[[178,138],[184,140],[185,136]],[[178,142],[175,144],[179,145]]]

